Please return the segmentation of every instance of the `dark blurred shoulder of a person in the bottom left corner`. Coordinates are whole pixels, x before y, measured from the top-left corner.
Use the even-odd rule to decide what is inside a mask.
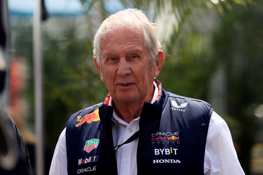
[[[2,109],[0,109],[0,174],[32,174],[24,139],[14,120]]]

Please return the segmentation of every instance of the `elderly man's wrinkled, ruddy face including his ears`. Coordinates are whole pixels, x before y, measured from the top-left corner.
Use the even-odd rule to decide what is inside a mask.
[[[141,30],[125,28],[101,40],[101,66],[95,61],[101,80],[115,103],[150,102],[156,62],[144,47]]]

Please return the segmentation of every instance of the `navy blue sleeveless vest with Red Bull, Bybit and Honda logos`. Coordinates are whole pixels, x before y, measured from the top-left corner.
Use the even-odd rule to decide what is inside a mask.
[[[137,148],[138,174],[204,174],[204,153],[213,109],[164,91],[144,103]],[[108,96],[109,97],[109,96]],[[112,139],[113,108],[104,103],[70,117],[66,129],[68,174],[118,174]]]

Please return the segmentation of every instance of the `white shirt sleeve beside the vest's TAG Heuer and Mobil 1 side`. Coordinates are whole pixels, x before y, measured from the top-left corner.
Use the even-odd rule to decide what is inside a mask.
[[[50,165],[49,175],[67,175],[66,128],[61,132]]]

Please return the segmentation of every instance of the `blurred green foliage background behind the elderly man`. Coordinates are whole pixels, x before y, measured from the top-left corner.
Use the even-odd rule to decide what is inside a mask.
[[[70,115],[107,94],[92,56],[100,21],[141,8],[159,27],[166,57],[157,79],[164,89],[211,103],[229,125],[245,173],[263,174],[263,1],[80,2],[82,14],[49,14],[42,22],[44,142],[52,152]],[[26,65],[23,97],[34,131],[32,17],[10,17],[10,58]]]

